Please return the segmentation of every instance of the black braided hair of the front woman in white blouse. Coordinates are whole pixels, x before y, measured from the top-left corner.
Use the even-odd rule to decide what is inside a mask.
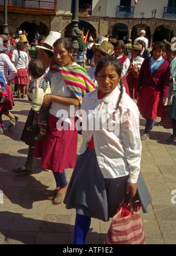
[[[122,65],[120,63],[120,61],[117,58],[114,58],[113,56],[104,56],[102,57],[97,66],[96,66],[96,71],[95,71],[95,76],[98,75],[98,73],[100,72],[101,69],[104,68],[104,66],[113,66],[116,69],[117,74],[119,75],[119,78],[121,78],[121,70],[122,70]],[[119,107],[119,103],[120,100],[123,96],[123,89],[124,85],[123,85],[123,80],[120,80],[120,95],[119,95],[119,99],[117,102],[117,107]]]

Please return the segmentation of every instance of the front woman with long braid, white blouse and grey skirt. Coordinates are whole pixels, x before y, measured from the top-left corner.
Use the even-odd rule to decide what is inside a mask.
[[[64,200],[67,209],[76,208],[77,211],[75,244],[84,244],[91,217],[109,221],[126,193],[131,193],[131,197],[136,195],[145,213],[151,203],[140,173],[140,113],[124,93],[119,60],[104,56],[96,66],[95,76],[99,89],[87,93],[83,99],[82,110],[86,114],[82,154]],[[93,125],[97,122],[99,129]],[[94,129],[89,129],[90,123]]]

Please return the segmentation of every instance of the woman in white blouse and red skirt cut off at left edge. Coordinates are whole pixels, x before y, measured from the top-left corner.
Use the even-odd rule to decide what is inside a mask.
[[[4,53],[3,43],[0,43],[0,71],[6,81],[5,89],[8,93],[6,101],[0,104],[0,123],[2,125],[2,128],[4,128],[4,125],[2,124],[2,114],[5,114],[5,116],[8,116],[10,119],[8,128],[11,128],[15,125],[16,121],[18,120],[18,117],[13,116],[13,114],[9,111],[14,106],[13,92],[10,83],[11,80],[16,76],[17,70],[15,66],[13,66],[8,55]]]

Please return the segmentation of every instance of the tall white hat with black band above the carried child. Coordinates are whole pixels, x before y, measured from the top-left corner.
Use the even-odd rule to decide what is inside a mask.
[[[56,42],[57,39],[61,37],[61,33],[50,31],[49,35],[45,39],[45,42],[42,46],[36,46],[36,48],[44,49],[44,50],[50,50],[50,52],[53,52],[53,43]]]

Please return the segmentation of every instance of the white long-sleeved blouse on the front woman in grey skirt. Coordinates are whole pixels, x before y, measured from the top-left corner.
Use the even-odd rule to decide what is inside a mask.
[[[140,173],[141,139],[139,111],[136,103],[124,93],[116,109],[120,90],[118,86],[103,99],[99,89],[83,98],[83,144],[80,153],[87,149],[93,136],[97,161],[104,178],[130,175],[129,183],[137,183]],[[100,127],[100,128],[99,128]]]

